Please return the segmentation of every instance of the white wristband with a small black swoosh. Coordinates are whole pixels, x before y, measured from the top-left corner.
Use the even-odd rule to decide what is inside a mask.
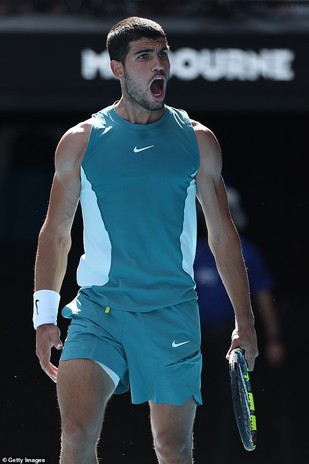
[[[57,325],[60,295],[54,290],[38,290],[33,295],[33,325],[37,330],[42,324]]]

